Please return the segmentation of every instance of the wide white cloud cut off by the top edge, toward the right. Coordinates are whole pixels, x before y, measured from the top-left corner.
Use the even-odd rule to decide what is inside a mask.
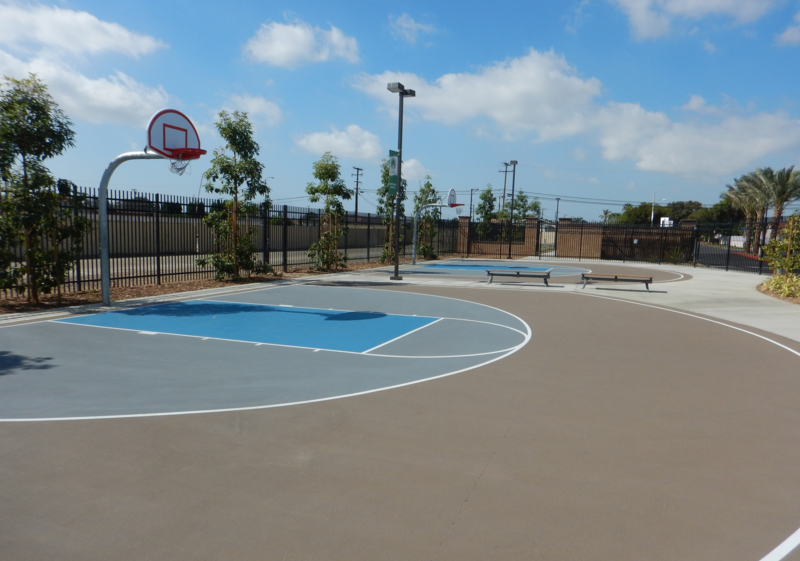
[[[675,18],[699,20],[727,16],[736,23],[753,22],[780,0],[608,0],[628,16],[637,39],[654,39],[670,32]]]

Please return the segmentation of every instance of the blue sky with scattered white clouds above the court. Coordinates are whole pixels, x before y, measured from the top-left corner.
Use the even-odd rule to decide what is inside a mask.
[[[308,204],[311,165],[329,150],[351,186],[353,166],[364,169],[359,210],[374,210],[397,142],[392,81],[417,91],[405,104],[410,188],[430,174],[462,202],[487,183],[502,190],[512,159],[517,189],[540,194],[548,217],[560,196],[562,216],[590,220],[654,195],[713,204],[742,173],[800,164],[798,0],[398,8],[0,0],[0,73],[49,85],[77,132],[50,168],[93,187],[144,146],[159,109],[186,113],[209,152],[216,114],[240,109],[277,204]],[[182,177],[130,162],[111,187],[194,196],[208,162]]]

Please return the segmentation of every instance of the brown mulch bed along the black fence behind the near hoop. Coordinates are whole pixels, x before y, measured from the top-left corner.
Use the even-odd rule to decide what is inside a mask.
[[[410,259],[401,259],[401,263],[410,263]],[[166,284],[145,284],[139,286],[119,286],[111,287],[111,300],[130,300],[131,298],[145,298],[148,296],[161,296],[162,294],[175,294],[177,292],[192,292],[195,290],[206,290],[209,288],[222,288],[226,286],[241,286],[254,283],[269,283],[283,279],[296,279],[315,275],[328,275],[338,272],[352,272],[365,269],[375,269],[386,267],[383,263],[348,263],[346,269],[338,271],[317,271],[316,269],[291,269],[286,273],[276,275],[253,275],[240,281],[217,281],[214,279],[202,279],[193,281],[170,282]],[[15,314],[19,312],[52,310],[69,306],[80,306],[83,304],[98,304],[101,302],[99,290],[84,290],[81,292],[65,292],[61,295],[61,301],[55,294],[42,294],[38,304],[29,304],[25,298],[9,298],[0,300],[0,314]]]

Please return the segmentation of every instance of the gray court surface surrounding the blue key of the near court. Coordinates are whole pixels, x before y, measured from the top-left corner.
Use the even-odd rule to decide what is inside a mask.
[[[530,338],[527,324],[508,312],[423,294],[290,285],[214,300],[317,309],[335,304],[337,310],[440,319],[364,353],[53,321],[5,327],[0,329],[0,419],[308,402],[475,368],[507,356]]]

